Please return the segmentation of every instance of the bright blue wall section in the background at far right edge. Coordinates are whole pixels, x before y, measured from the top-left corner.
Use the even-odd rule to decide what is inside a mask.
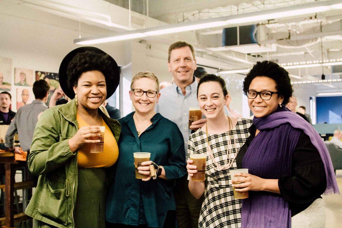
[[[316,97],[317,123],[342,123],[342,96]]]

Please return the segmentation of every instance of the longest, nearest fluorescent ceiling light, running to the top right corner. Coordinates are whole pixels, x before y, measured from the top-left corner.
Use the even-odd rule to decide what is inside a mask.
[[[305,15],[310,13],[320,13],[330,10],[342,9],[341,0],[315,1],[301,5],[293,5],[283,8],[276,8],[271,10],[262,10],[250,13],[242,13],[237,15],[230,15],[224,17],[208,18],[198,21],[183,22],[178,24],[170,24],[157,26],[146,29],[138,29],[132,32],[117,33],[115,35],[107,35],[93,38],[75,39],[77,44],[96,44],[106,43],[119,40],[128,40],[135,38],[142,38],[147,36],[165,35],[176,32],[192,31],[205,28],[214,28],[222,26],[233,26],[242,23],[259,22],[268,19],[284,18],[298,15]],[[139,34],[139,35],[136,35]],[[88,42],[85,42],[88,41]]]

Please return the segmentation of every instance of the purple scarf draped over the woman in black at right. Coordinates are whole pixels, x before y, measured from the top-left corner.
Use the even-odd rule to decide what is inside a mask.
[[[279,179],[291,174],[292,152],[302,130],[311,139],[324,164],[327,188],[324,194],[339,193],[335,173],[326,146],[315,129],[303,118],[286,107],[263,118],[253,119],[260,133],[252,140],[242,166],[249,173],[267,179]],[[250,191],[242,200],[241,225],[243,228],[291,227],[288,203],[279,194]]]

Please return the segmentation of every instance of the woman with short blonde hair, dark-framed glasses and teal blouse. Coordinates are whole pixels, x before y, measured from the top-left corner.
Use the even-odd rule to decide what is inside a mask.
[[[182,133],[154,110],[160,93],[153,73],[137,73],[129,94],[135,111],[118,120],[120,153],[107,197],[107,227],[174,228],[174,180],[186,174]],[[143,179],[135,178],[133,152],[150,153],[149,161],[137,165]]]

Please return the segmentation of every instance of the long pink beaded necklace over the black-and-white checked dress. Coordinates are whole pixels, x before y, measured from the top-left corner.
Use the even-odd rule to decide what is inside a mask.
[[[228,117],[228,116],[227,116]],[[214,158],[214,155],[213,155],[213,152],[211,150],[211,147],[210,147],[210,143],[209,143],[209,138],[208,138],[208,122],[206,123],[206,135],[207,135],[207,143],[208,143],[208,152],[209,152],[209,157],[210,159],[212,160],[212,163],[213,163],[213,168],[216,170],[216,171],[221,171],[221,170],[226,170],[226,169],[229,169],[230,167],[232,167],[233,165],[233,162],[237,156],[237,153],[236,152],[233,152],[234,153],[234,158],[231,158],[231,151],[232,151],[232,145],[234,144],[234,147],[236,148],[236,142],[235,140],[233,141],[233,144],[232,144],[232,129],[233,129],[233,123],[232,123],[232,120],[231,118],[228,117],[228,123],[229,123],[229,141],[228,141],[228,149],[226,149],[226,152],[227,152],[227,159],[226,161],[224,162],[224,165],[220,165],[218,164],[216,161],[215,161],[215,158]],[[214,165],[215,164],[215,165]],[[215,167],[216,166],[216,167]]]

